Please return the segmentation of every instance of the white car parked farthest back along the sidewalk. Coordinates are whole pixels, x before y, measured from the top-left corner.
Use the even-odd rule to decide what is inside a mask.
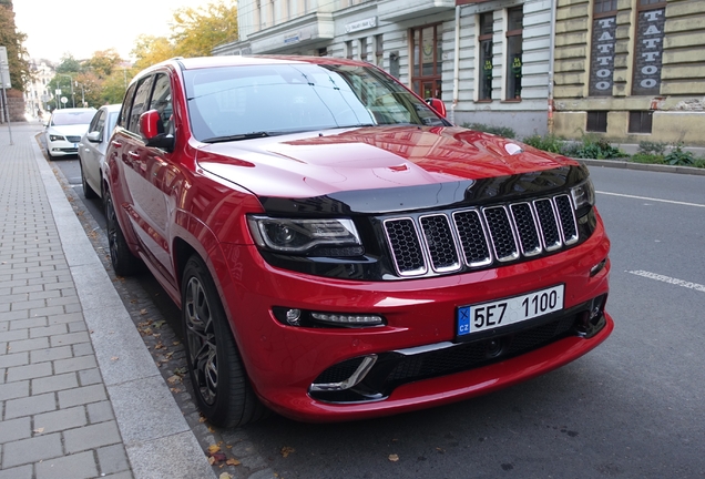
[[[76,154],[81,136],[88,131],[94,114],[94,108],[54,110],[44,124],[49,156],[53,159]]]

